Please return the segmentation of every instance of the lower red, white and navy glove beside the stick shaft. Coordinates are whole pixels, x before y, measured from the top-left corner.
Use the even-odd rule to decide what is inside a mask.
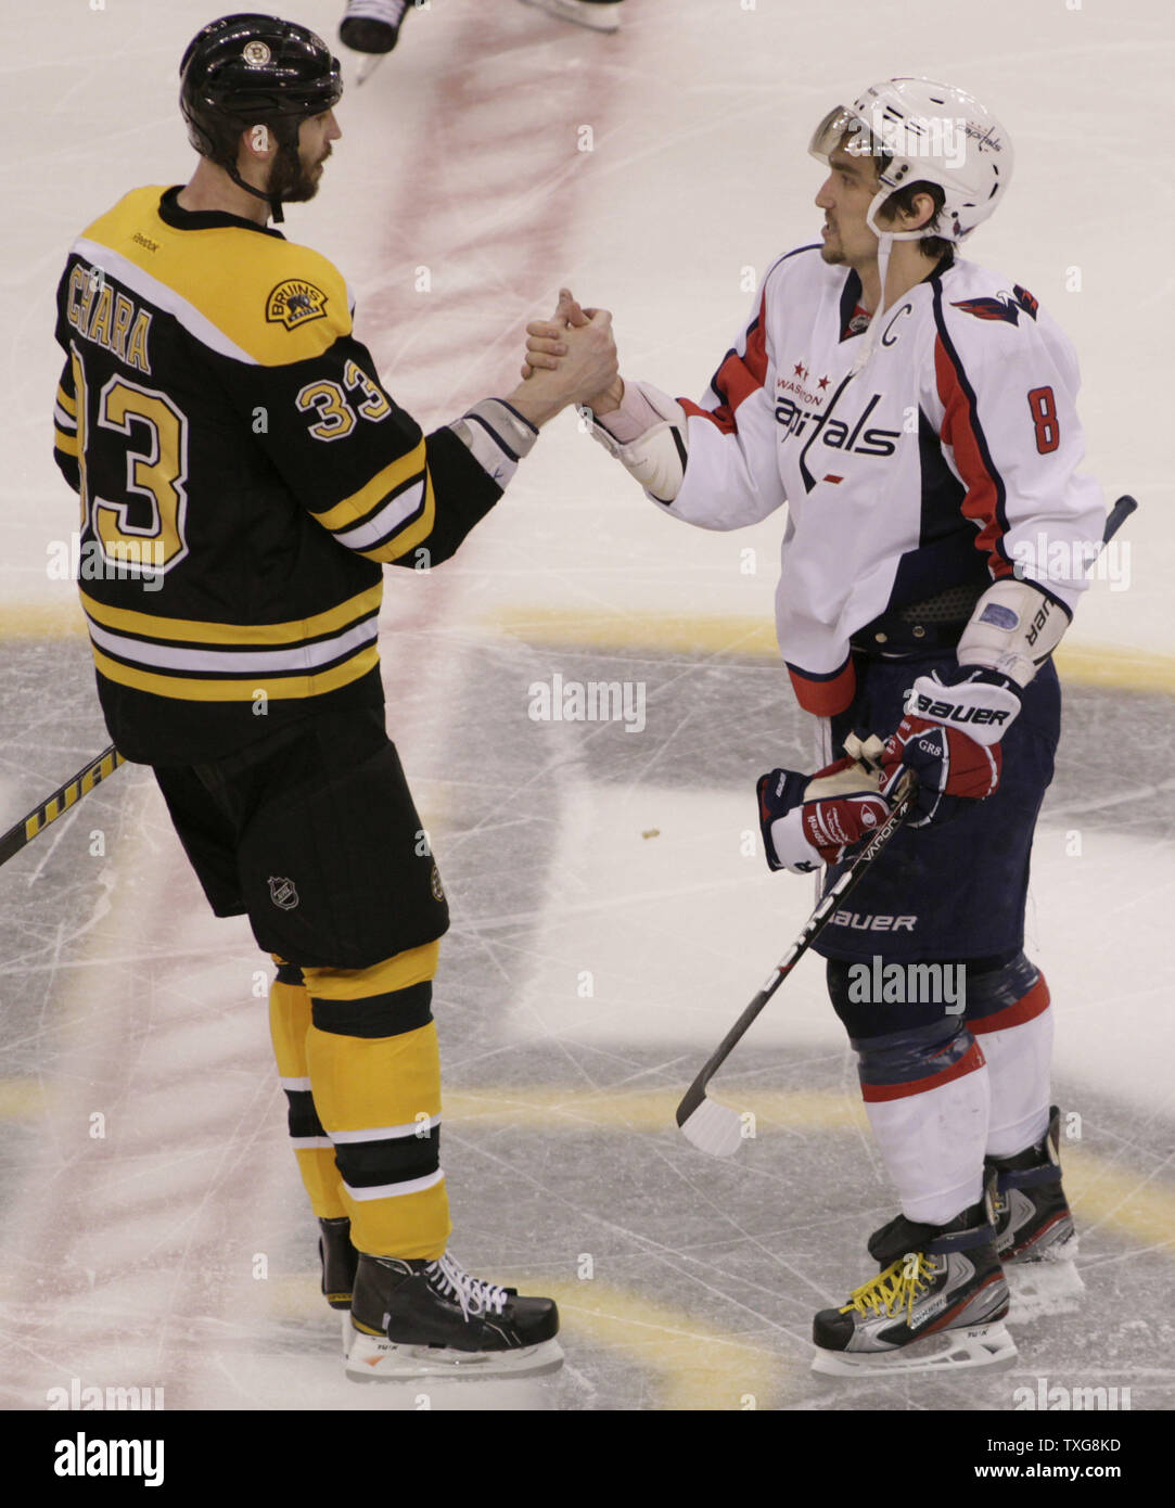
[[[851,759],[815,775],[772,769],[759,777],[759,825],[769,869],[804,875],[821,864],[839,864],[857,843],[888,817],[878,777]]]

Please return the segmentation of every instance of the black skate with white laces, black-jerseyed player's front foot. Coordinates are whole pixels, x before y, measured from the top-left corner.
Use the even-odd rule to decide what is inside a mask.
[[[347,1375],[532,1377],[563,1366],[554,1298],[471,1277],[451,1256],[404,1261],[359,1253]]]

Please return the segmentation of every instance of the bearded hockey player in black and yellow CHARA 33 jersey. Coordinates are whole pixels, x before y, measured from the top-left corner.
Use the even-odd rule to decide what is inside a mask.
[[[305,27],[243,14],[181,65],[201,154],[69,252],[56,460],[110,734],[155,771],[217,915],[278,959],[270,1021],[364,1378],[545,1371],[558,1313],[446,1253],[430,1009],[448,908],[376,647],[382,569],[445,561],[538,427],[615,374],[609,321],[558,374],[422,434],[336,268],[270,226],[317,192],[342,86]]]

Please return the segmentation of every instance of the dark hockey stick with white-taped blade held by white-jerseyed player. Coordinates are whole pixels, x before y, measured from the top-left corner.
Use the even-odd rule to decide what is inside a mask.
[[[1136,508],[1137,502],[1128,496],[1122,496],[1115,502],[1106,517],[1106,528],[1101,535],[1103,547],[1110,543]],[[787,979],[795,965],[799,962],[801,956],[828,924],[828,918],[833,914],[836,902],[843,900],[866,869],[894,835],[897,828],[905,820],[913,801],[914,787],[913,784],[907,784],[887,820],[866,843],[828,894],[824,896],[821,903],[804,923],[802,932],[795,939],[787,955],[775,965],[775,970],[768,982],[750,1006],[747,1006],[730,1031],[727,1031],[713,1056],[686,1090],[685,1098],[680,1105],[677,1105],[677,1125],[682,1128],[685,1137],[692,1142],[695,1148],[698,1148],[698,1151],[709,1152],[713,1157],[733,1157],[739,1146],[742,1146],[742,1116],[738,1110],[732,1110],[729,1105],[722,1105],[716,1099],[710,1099],[706,1095],[706,1086],[742,1039],[744,1033],[768,1000],[771,1000],[784,979]]]

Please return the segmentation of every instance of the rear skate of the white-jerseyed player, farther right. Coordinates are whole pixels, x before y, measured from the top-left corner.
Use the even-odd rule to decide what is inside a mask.
[[[1084,1292],[1059,1148],[1060,1111],[1051,1105],[1048,1129],[1035,1146],[986,1163],[996,1173],[996,1246],[1012,1292],[1012,1320],[1071,1313]]]

